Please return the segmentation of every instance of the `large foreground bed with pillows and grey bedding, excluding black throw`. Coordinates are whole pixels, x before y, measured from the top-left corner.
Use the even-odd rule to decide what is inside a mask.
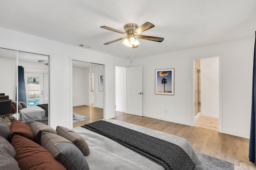
[[[194,162],[193,169],[204,170],[196,152],[184,138],[112,119],[103,122],[177,144]],[[9,127],[0,118],[0,129],[0,167],[3,169],[164,170],[148,158],[84,127],[70,130],[57,126],[55,130],[37,121],[27,125],[15,119]],[[184,170],[175,168],[181,169]]]

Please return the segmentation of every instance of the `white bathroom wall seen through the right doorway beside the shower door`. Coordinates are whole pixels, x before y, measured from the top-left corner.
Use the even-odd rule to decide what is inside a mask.
[[[200,59],[201,115],[219,117],[219,58]]]

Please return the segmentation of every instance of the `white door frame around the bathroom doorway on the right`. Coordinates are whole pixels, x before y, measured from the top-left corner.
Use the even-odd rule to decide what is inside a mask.
[[[211,55],[208,57],[204,56],[195,56],[191,57],[191,126],[195,126],[195,92],[194,92],[194,60],[195,59],[206,59],[218,57],[219,58],[219,132],[222,133],[222,54]]]

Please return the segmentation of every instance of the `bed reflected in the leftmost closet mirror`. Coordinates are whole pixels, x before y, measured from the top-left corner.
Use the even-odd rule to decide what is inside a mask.
[[[12,114],[16,118],[16,113]],[[29,123],[30,121],[44,121],[48,120],[48,104],[28,106],[18,111],[18,120]]]

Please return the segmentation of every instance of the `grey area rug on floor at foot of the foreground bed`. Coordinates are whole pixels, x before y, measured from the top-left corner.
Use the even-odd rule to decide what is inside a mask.
[[[205,170],[234,170],[234,164],[196,152]]]

